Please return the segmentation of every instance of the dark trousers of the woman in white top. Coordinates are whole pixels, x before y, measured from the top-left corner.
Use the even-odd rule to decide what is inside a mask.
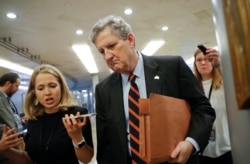
[[[231,151],[216,158],[200,156],[200,164],[213,164],[213,163],[233,164]]]

